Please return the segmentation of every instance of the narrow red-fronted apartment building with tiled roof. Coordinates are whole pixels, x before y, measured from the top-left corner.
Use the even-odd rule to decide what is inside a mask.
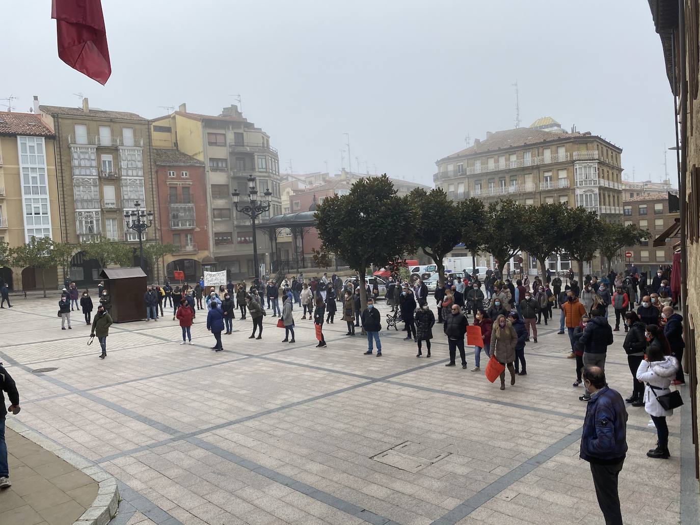
[[[207,176],[204,162],[176,149],[154,148],[161,238],[175,251],[163,264],[169,276],[185,272],[186,281],[199,279],[214,259],[209,253]],[[218,217],[221,218],[221,217]],[[223,218],[230,218],[223,217]]]

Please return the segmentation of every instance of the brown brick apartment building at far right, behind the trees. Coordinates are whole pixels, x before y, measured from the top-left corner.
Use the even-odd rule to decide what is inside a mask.
[[[650,239],[640,242],[637,246],[629,246],[625,251],[632,252],[631,261],[636,263],[641,272],[647,275],[661,265],[671,265],[673,262],[673,246],[652,246],[652,241],[661,233],[678,222],[678,211],[668,211],[668,193],[642,194],[622,202],[624,225],[636,224],[639,228],[649,230]],[[626,261],[625,261],[626,262]]]

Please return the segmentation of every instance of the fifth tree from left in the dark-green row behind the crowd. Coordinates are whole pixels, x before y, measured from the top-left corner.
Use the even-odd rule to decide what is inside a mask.
[[[547,274],[545,260],[549,255],[561,253],[569,230],[566,227],[567,204],[543,202],[538,206],[527,208],[528,220],[522,223],[522,248],[537,259],[542,269],[542,276]]]

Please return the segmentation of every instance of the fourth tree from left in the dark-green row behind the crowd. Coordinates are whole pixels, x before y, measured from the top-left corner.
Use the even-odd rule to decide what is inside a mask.
[[[528,220],[526,208],[511,199],[491,202],[486,208],[484,249],[498,261],[501,272],[521,250],[521,228]]]

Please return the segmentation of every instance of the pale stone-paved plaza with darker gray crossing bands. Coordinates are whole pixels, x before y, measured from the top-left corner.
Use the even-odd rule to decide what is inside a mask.
[[[22,400],[8,424],[21,421],[116,477],[123,501],[112,524],[604,523],[578,457],[586,407],[571,386],[568,336],[556,334],[558,309],[526,346],[528,375],[500,391],[483,372],[444,367],[442,325],[433,357],[416,358],[405,332],[382,330],[377,358],[363,355],[359,332],[344,335],[340,316],[324,325],[328,346],[315,348],[298,307],[296,343],[281,343],[268,310],[262,340],[248,339],[250,318],[237,318],[215,353],[198,310],[195,345],[179,345],[166,315],[113,325],[101,360],[80,312],[61,330],[57,300],[15,305],[0,313],[0,360]],[[605,372],[626,397],[623,339],[615,332]],[[33,372],[47,367],[55,370]],[[689,405],[668,420],[667,461],[647,458],[655,430],[643,408],[628,409],[624,522],[678,523]]]

